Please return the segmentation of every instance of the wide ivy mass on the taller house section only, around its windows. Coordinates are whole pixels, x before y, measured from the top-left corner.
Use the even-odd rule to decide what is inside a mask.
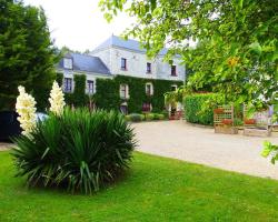
[[[146,83],[152,83],[153,94],[146,94]],[[128,84],[129,99],[120,99],[120,84]],[[117,75],[113,79],[97,79],[97,92],[95,101],[98,108],[108,110],[119,110],[121,103],[128,104],[129,113],[140,113],[143,103],[151,103],[152,112],[161,112],[165,110],[163,94],[171,91],[171,85],[182,85],[182,81],[155,80],[133,78],[126,75]]]

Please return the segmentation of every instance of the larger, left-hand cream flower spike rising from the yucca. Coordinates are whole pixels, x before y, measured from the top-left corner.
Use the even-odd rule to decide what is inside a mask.
[[[19,87],[19,95],[17,98],[16,109],[19,114],[18,121],[23,130],[23,135],[29,135],[36,125],[36,101],[32,95],[26,92],[23,87]]]

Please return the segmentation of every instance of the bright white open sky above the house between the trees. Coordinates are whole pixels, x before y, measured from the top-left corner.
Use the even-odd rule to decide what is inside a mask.
[[[135,20],[119,14],[107,23],[98,8],[98,0],[24,0],[26,4],[41,6],[48,17],[51,37],[58,47],[92,50],[112,33],[120,34]]]

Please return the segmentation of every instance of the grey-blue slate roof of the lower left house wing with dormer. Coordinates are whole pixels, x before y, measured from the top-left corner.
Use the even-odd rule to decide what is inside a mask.
[[[111,74],[107,65],[98,57],[69,52],[64,58],[72,59],[73,71],[95,72],[99,74]],[[63,59],[58,63],[59,69],[63,68]]]

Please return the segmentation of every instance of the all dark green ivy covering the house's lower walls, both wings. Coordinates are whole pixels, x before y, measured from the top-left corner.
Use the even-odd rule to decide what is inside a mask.
[[[57,82],[62,85],[62,73],[57,73]],[[75,74],[73,93],[64,93],[66,103],[75,107],[86,107],[90,97],[86,94],[86,75]],[[146,94],[146,83],[152,83],[153,94]],[[129,99],[120,98],[120,84],[128,84]],[[97,79],[97,92],[92,95],[97,108],[106,110],[119,110],[120,105],[126,102],[128,112],[140,113],[143,103],[151,103],[152,112],[161,112],[165,110],[163,94],[171,91],[171,85],[180,87],[182,81],[155,80],[117,75],[113,79]]]

